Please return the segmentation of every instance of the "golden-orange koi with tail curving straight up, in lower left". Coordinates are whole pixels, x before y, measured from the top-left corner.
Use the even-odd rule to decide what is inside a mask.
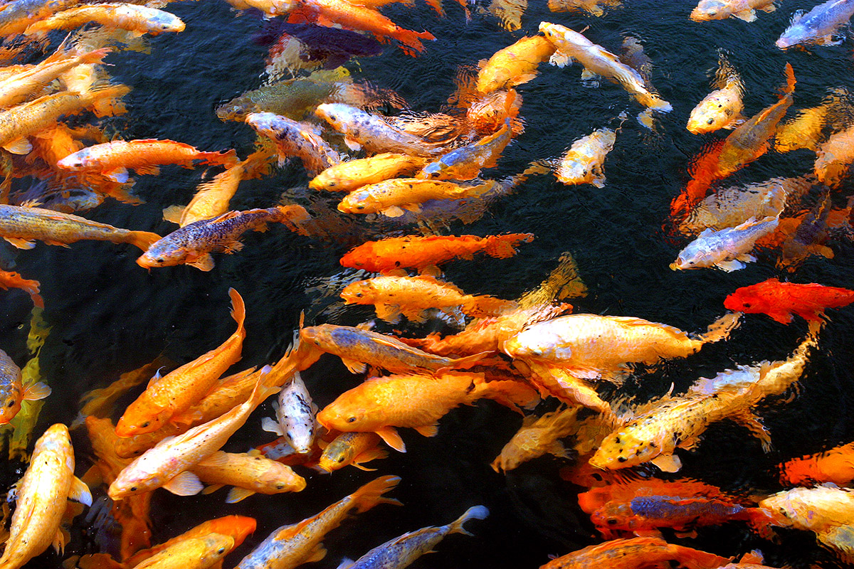
[[[233,288],[231,317],[237,322],[237,331],[225,343],[208,353],[185,363],[163,377],[152,380],[148,388],[128,406],[116,424],[115,433],[120,437],[153,433],[208,393],[219,376],[240,359],[246,329],[243,321],[246,308],[243,298]]]

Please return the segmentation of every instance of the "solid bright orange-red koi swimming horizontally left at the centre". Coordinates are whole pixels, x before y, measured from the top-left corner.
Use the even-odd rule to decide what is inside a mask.
[[[364,269],[371,273],[389,273],[399,269],[422,271],[453,258],[471,260],[474,253],[483,252],[494,258],[510,258],[517,253],[519,243],[534,239],[530,233],[507,235],[407,235],[386,237],[351,249],[341,258],[343,267]]]

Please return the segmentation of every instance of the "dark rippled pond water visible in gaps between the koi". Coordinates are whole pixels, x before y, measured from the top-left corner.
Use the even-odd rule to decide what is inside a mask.
[[[793,11],[810,9],[815,2],[783,0],[775,13],[760,12],[758,20],[749,24],[741,20],[692,22],[687,15],[694,4],[684,0],[626,0],[623,9],[611,10],[603,18],[551,14],[544,3],[530,3],[523,29],[515,33],[502,30],[497,20],[477,9],[466,22],[455,3],[448,3],[444,20],[437,19],[424,3],[415,9],[389,6],[385,12],[401,26],[427,29],[436,35],[436,41],[427,43],[416,59],[389,47],[383,55],[348,67],[354,78],[371,79],[397,90],[412,108],[436,111],[453,91],[459,66],[488,58],[524,33],[535,33],[539,22],[547,20],[576,30],[589,26],[585,35],[614,51],[625,36],[639,38],[652,58],[652,84],[675,110],[660,117],[654,134],[634,119],[624,123],[605,162],[605,188],[566,187],[553,177],[532,177],[515,194],[496,202],[477,223],[453,225],[451,232],[457,235],[531,232],[536,238],[514,258],[448,264],[448,280],[468,293],[517,298],[541,282],[560,254],[569,251],[589,287],[588,297],[576,302],[576,311],[639,316],[697,331],[722,314],[722,300],[734,288],[769,276],[785,276],[775,270],[774,252],[760,253],[757,263],[731,274],[671,271],[668,264],[684,242],[670,240],[661,228],[670,200],[687,182],[690,158],[705,142],[728,134],[693,136],[684,128],[690,110],[710,90],[710,70],[717,67],[718,48],[728,50],[746,84],[748,116],[776,101],[775,91],[784,81],[787,61],[798,78],[790,116],[797,108],[818,104],[830,87],[854,88],[850,40],[836,47],[787,53],[773,45]],[[251,15],[238,16],[219,0],[173,3],[168,9],[184,19],[185,32],[152,39],[150,55],[126,52],[108,56],[107,61],[114,64],[110,68],[114,78],[133,87],[127,97],[129,113],[111,119],[111,127],[128,139],[172,138],[204,149],[236,148],[241,156],[249,154],[253,132],[242,124],[220,122],[213,108],[260,84],[266,50],[254,44],[251,36],[262,22]],[[531,160],[559,155],[578,137],[611,124],[624,109],[633,116],[640,112],[617,85],[583,87],[580,71],[578,66],[559,69],[544,65],[538,78],[519,88],[526,130],[506,149],[490,177],[512,175]],[[812,160],[813,154],[805,151],[769,152],[727,184],[796,176],[809,171]],[[174,226],[161,221],[162,208],[187,203],[201,177],[201,169],[164,168],[161,176],[140,177],[137,182],[144,205],[110,200],[87,217],[165,235]],[[244,183],[231,207],[270,206],[285,189],[306,183],[298,165],[285,166],[274,177]],[[844,204],[850,193],[851,184],[843,183],[834,194],[834,203]],[[149,273],[134,264],[135,248],[101,242],[80,242],[69,249],[39,244],[32,251],[4,251],[5,257],[14,258],[15,270],[42,283],[45,318],[54,327],[41,355],[44,378],[54,393],[47,400],[36,434],[52,422],[70,422],[81,393],[106,386],[118,374],[161,352],[184,363],[219,345],[234,328],[227,316],[229,287],[243,294],[248,314],[248,336],[237,366],[243,369],[281,357],[300,311],[307,310],[310,319],[319,313],[313,307],[317,296],[307,288],[319,277],[340,272],[337,258],[347,247],[280,228],[246,235],[243,241],[243,251],[219,255],[210,273],[187,266]],[[790,278],[854,286],[854,247],[847,242],[831,246],[835,258],[810,258]],[[3,294],[0,345],[19,363],[26,361],[29,306],[22,293]],[[334,314],[315,322],[352,325],[367,317],[360,309]],[[801,380],[798,398],[791,403],[771,400],[759,408],[772,433],[774,450],[763,454],[757,440],[744,429],[724,422],[711,427],[699,450],[681,453],[682,474],[729,490],[777,491],[776,463],[854,439],[854,311],[834,311],[831,318],[822,333],[821,350],[814,354]],[[747,316],[728,342],[643,375],[629,389],[662,394],[672,382],[676,392],[684,391],[700,375],[711,376],[736,363],[786,357],[804,332],[799,320],[784,327],[764,316]],[[303,377],[321,407],[360,381],[332,357],[322,359]],[[269,440],[260,431],[263,415],[272,415],[269,403],[252,416],[226,450],[243,451]],[[308,479],[307,489],[300,494],[251,496],[228,505],[221,492],[178,497],[158,491],[152,510],[153,541],[161,542],[220,515],[254,516],[258,531],[226,560],[226,566],[233,565],[273,528],[315,514],[384,473],[401,476],[393,495],[405,506],[381,506],[342,525],[325,540],[330,553],[316,566],[335,567],[344,555],[357,558],[405,531],[447,523],[474,504],[484,504],[492,512],[488,520],[471,523],[477,537],[449,537],[438,553],[419,560],[416,566],[535,567],[545,563],[549,554],[566,554],[600,541],[577,508],[579,489],[558,477],[558,468],[566,462],[545,457],[506,476],[488,466],[520,423],[518,415],[491,402],[455,409],[441,421],[436,438],[404,429],[401,434],[409,451],[372,463],[377,473],[348,468],[328,476],[300,469]],[[74,440],[82,472],[88,467],[85,436],[76,433]],[[17,474],[12,472],[18,466],[9,465],[5,484],[20,475],[20,469]],[[96,551],[93,528],[86,527],[82,517],[77,525],[83,535],[75,536],[68,552]],[[810,535],[794,531],[781,535],[781,543],[769,543],[732,524],[705,529],[697,540],[680,543],[723,555],[760,548],[770,565],[808,566],[816,560],[824,566],[834,564],[833,556],[822,552]],[[44,554],[31,566],[56,566],[58,559],[53,553]]]

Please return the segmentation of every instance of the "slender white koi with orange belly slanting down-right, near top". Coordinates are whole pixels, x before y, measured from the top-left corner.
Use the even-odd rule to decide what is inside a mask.
[[[582,34],[558,24],[541,22],[540,32],[554,44],[557,49],[555,55],[562,55],[567,62],[577,60],[584,66],[585,73],[582,73],[582,78],[601,75],[620,84],[623,89],[635,96],[635,99],[644,107],[664,113],[673,110],[673,106],[669,102],[664,101],[647,89],[640,73],[620,61],[617,55],[612,54],[601,45],[594,44]]]

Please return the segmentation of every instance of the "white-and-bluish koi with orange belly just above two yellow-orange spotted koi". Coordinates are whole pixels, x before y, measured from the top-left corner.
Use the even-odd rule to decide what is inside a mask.
[[[376,114],[343,103],[324,103],[314,113],[344,135],[351,148],[363,147],[368,152],[394,152],[415,156],[438,154],[420,136],[402,131]]]

